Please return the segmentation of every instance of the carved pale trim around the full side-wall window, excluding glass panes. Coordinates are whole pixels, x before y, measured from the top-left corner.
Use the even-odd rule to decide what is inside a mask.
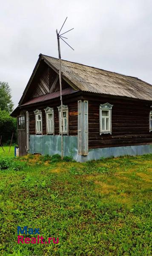
[[[112,134],[112,107],[113,107],[113,105],[111,105],[108,102],[105,103],[105,104],[100,104],[100,106],[99,106],[100,135],[101,134]],[[108,112],[108,116],[107,117],[104,116],[104,120],[106,120],[106,119],[109,120],[109,129],[107,129],[107,130],[102,129],[102,120],[103,120],[102,111],[107,111]]]

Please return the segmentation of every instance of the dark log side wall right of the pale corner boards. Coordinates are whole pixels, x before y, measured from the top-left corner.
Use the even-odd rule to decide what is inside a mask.
[[[99,133],[99,105],[110,103],[112,107],[112,134]],[[131,99],[99,97],[89,100],[89,148],[103,148],[152,143],[149,132],[150,104]]]

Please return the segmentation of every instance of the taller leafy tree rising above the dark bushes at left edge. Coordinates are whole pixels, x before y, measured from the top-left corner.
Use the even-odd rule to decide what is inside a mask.
[[[11,100],[11,88],[6,82],[0,81],[0,109],[9,113],[13,111],[13,102]]]

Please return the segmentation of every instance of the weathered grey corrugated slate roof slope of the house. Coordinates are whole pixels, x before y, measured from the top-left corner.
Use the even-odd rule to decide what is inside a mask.
[[[59,70],[57,58],[42,54],[41,57],[50,66]],[[65,60],[61,60],[61,72],[66,79],[77,87],[77,90],[152,100],[152,85],[136,77],[125,76]]]

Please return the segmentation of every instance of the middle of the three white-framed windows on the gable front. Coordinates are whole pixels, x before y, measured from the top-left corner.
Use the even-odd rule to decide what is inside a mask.
[[[54,109],[45,108],[46,112],[46,134],[54,134]]]

